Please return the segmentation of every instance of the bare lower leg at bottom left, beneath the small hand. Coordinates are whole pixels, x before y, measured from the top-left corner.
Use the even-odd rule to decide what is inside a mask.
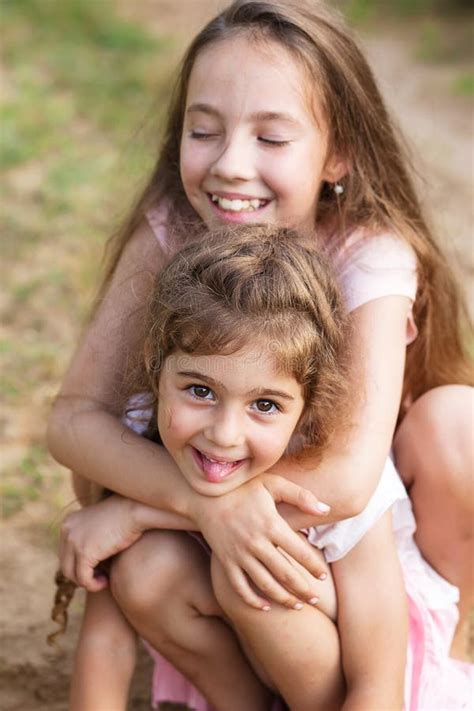
[[[74,660],[70,711],[125,711],[136,635],[109,590],[89,593]]]

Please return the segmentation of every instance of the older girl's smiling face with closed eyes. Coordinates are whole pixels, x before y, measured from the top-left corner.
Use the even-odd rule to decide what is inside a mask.
[[[341,177],[314,103],[306,72],[276,42],[236,36],[198,55],[180,167],[186,195],[206,224],[314,228],[322,181]]]

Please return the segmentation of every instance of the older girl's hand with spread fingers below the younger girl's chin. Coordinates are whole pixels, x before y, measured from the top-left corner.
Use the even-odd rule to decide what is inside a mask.
[[[279,515],[280,502],[315,516],[329,511],[310,491],[276,474],[263,474],[223,496],[196,497],[192,504],[192,517],[232,587],[257,609],[268,609],[269,599],[296,609],[301,601],[315,604],[316,586],[287,556],[319,580],[327,575],[317,552]]]

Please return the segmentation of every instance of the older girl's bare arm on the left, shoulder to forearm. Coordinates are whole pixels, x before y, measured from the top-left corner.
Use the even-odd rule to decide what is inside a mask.
[[[53,406],[48,445],[55,459],[75,472],[75,488],[82,493],[85,487],[79,483],[81,477],[139,498],[145,487],[134,475],[143,457],[155,473],[155,477],[151,472],[144,477],[147,481],[157,479],[157,465],[164,471],[174,471],[162,448],[146,447],[131,433],[125,441],[125,428],[119,419],[119,394],[124,391],[127,364],[141,348],[147,299],[163,261],[152,231],[143,223],[124,249]],[[133,443],[142,446],[133,447]],[[138,457],[136,464],[134,457]],[[176,501],[178,496],[176,493]],[[174,500],[170,505],[174,506]],[[182,505],[177,504],[177,508]]]

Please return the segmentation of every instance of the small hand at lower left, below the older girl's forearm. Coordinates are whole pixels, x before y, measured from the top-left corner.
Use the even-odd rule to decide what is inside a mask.
[[[136,503],[113,495],[64,519],[59,539],[59,562],[64,575],[89,592],[108,585],[97,574],[99,563],[129,548],[143,533],[135,513]]]

